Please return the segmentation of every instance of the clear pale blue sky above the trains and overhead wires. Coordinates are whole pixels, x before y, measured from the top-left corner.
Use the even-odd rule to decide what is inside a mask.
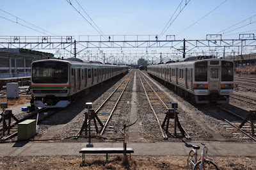
[[[255,34],[255,6],[255,0],[10,0],[0,4],[0,36],[45,36],[46,33],[46,36],[74,36],[79,41],[86,40],[87,35],[100,34],[116,38],[117,35],[157,35],[159,40],[164,40],[166,35],[175,35],[175,40],[204,40],[206,35],[221,34],[230,40],[238,39],[241,33]],[[171,22],[168,23],[169,20]],[[79,48],[83,49],[81,45],[77,46]],[[145,49],[138,48],[89,50],[95,54],[100,53],[97,50],[104,50],[106,56],[113,51],[116,58],[122,56],[119,55],[122,50],[145,52]],[[147,50],[156,50],[157,54],[172,52],[166,49]],[[64,54],[63,51],[59,50],[59,54]],[[49,52],[56,53],[56,50]],[[81,52],[81,57],[89,59],[86,52]]]

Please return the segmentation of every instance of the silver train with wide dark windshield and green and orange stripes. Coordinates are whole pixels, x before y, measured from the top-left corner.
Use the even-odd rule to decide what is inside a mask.
[[[31,91],[35,107],[67,107],[77,95],[129,67],[83,62],[81,59],[44,59],[31,63]]]

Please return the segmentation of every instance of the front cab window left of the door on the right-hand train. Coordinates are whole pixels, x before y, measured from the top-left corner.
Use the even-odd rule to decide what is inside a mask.
[[[195,63],[195,81],[207,81],[207,61]]]

